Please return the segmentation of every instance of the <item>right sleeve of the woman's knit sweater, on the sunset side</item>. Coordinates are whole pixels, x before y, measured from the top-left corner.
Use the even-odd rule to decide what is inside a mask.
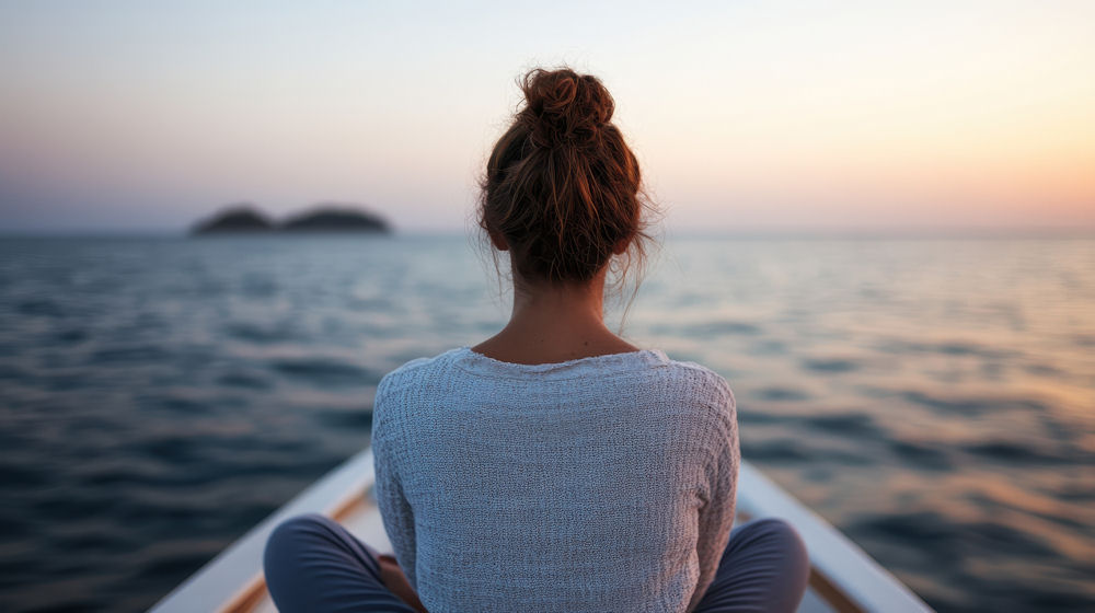
[[[707,592],[723,552],[730,540],[737,497],[738,465],[741,453],[738,447],[738,424],[734,394],[728,385],[721,385],[723,407],[719,410],[721,425],[713,428],[717,432],[715,453],[707,467],[710,483],[708,499],[700,509],[696,554],[700,559],[700,579],[696,582],[688,611],[693,611]]]

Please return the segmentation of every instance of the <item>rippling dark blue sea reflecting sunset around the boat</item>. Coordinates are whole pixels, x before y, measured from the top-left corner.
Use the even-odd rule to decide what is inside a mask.
[[[0,610],[152,604],[496,294],[462,238],[0,239]],[[676,240],[627,335],[941,611],[1095,606],[1095,241]]]

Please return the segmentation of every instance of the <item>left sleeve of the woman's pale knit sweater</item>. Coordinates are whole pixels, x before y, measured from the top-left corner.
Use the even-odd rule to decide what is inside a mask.
[[[395,550],[395,559],[400,563],[400,568],[406,575],[411,587],[417,591],[414,510],[403,493],[396,470],[395,455],[399,452],[396,448],[399,441],[390,440],[384,417],[382,396],[378,389],[372,421],[372,459],[377,475],[373,491],[377,495],[377,506],[380,508],[384,531],[392,542],[392,548]]]

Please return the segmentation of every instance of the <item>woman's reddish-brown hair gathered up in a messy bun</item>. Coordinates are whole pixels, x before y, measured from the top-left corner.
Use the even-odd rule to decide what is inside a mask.
[[[612,96],[565,67],[533,69],[519,85],[525,102],[481,181],[480,227],[495,244],[505,240],[526,280],[589,281],[618,254],[625,271],[645,255],[653,206],[611,123]]]

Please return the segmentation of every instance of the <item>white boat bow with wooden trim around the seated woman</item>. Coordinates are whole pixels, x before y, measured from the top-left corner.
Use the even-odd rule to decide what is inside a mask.
[[[263,581],[266,537],[283,520],[319,512],[334,518],[381,552],[391,552],[372,495],[372,450],[365,450],[314,483],[221,552],[152,606],[153,613],[275,612]],[[800,613],[931,609],[837,529],[748,462],[738,476],[739,520],[777,517],[802,535],[810,554],[810,583]]]

